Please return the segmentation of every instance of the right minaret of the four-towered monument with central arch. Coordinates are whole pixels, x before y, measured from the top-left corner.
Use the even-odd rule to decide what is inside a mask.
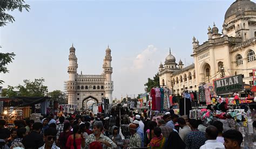
[[[113,92],[113,81],[111,79],[111,75],[112,75],[111,61],[112,61],[111,49],[109,48],[109,46],[107,46],[106,55],[105,55],[104,64],[103,64],[103,72],[105,75],[105,81],[104,81],[105,97],[109,98],[109,103],[112,103],[112,92]]]

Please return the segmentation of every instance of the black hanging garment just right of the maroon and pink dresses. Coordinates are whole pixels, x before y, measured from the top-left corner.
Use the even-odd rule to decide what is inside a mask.
[[[184,97],[185,97],[185,103],[184,103]],[[184,93],[184,97],[180,98],[179,100],[179,114],[181,116],[183,115],[189,116],[190,110],[192,110],[191,100],[190,100],[191,97],[190,97],[190,94],[188,93]]]

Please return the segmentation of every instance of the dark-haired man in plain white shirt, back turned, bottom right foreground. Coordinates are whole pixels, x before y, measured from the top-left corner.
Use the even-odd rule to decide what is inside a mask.
[[[208,126],[205,130],[205,136],[207,138],[207,141],[205,141],[205,144],[200,147],[200,149],[207,149],[207,148],[212,148],[212,149],[224,149],[225,146],[218,142],[217,136],[218,136],[218,129],[215,126]]]

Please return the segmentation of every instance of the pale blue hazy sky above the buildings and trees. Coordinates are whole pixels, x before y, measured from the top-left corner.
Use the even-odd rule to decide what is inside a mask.
[[[172,54],[193,62],[192,38],[207,40],[208,25],[222,30],[231,1],[26,1],[30,12],[14,11],[16,22],[0,28],[1,52],[14,52],[3,87],[43,77],[52,90],[64,90],[69,48],[74,45],[78,73],[101,74],[112,50],[113,98],[144,92],[148,77]]]

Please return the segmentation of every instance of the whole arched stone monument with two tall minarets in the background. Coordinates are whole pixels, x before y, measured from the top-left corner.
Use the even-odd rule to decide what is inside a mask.
[[[113,81],[111,79],[111,49],[107,47],[103,61],[103,73],[100,75],[83,75],[77,73],[78,63],[75,47],[70,47],[69,80],[66,81],[68,104],[76,104],[78,108],[87,107],[87,101],[102,102],[102,98],[109,98],[112,103]]]

